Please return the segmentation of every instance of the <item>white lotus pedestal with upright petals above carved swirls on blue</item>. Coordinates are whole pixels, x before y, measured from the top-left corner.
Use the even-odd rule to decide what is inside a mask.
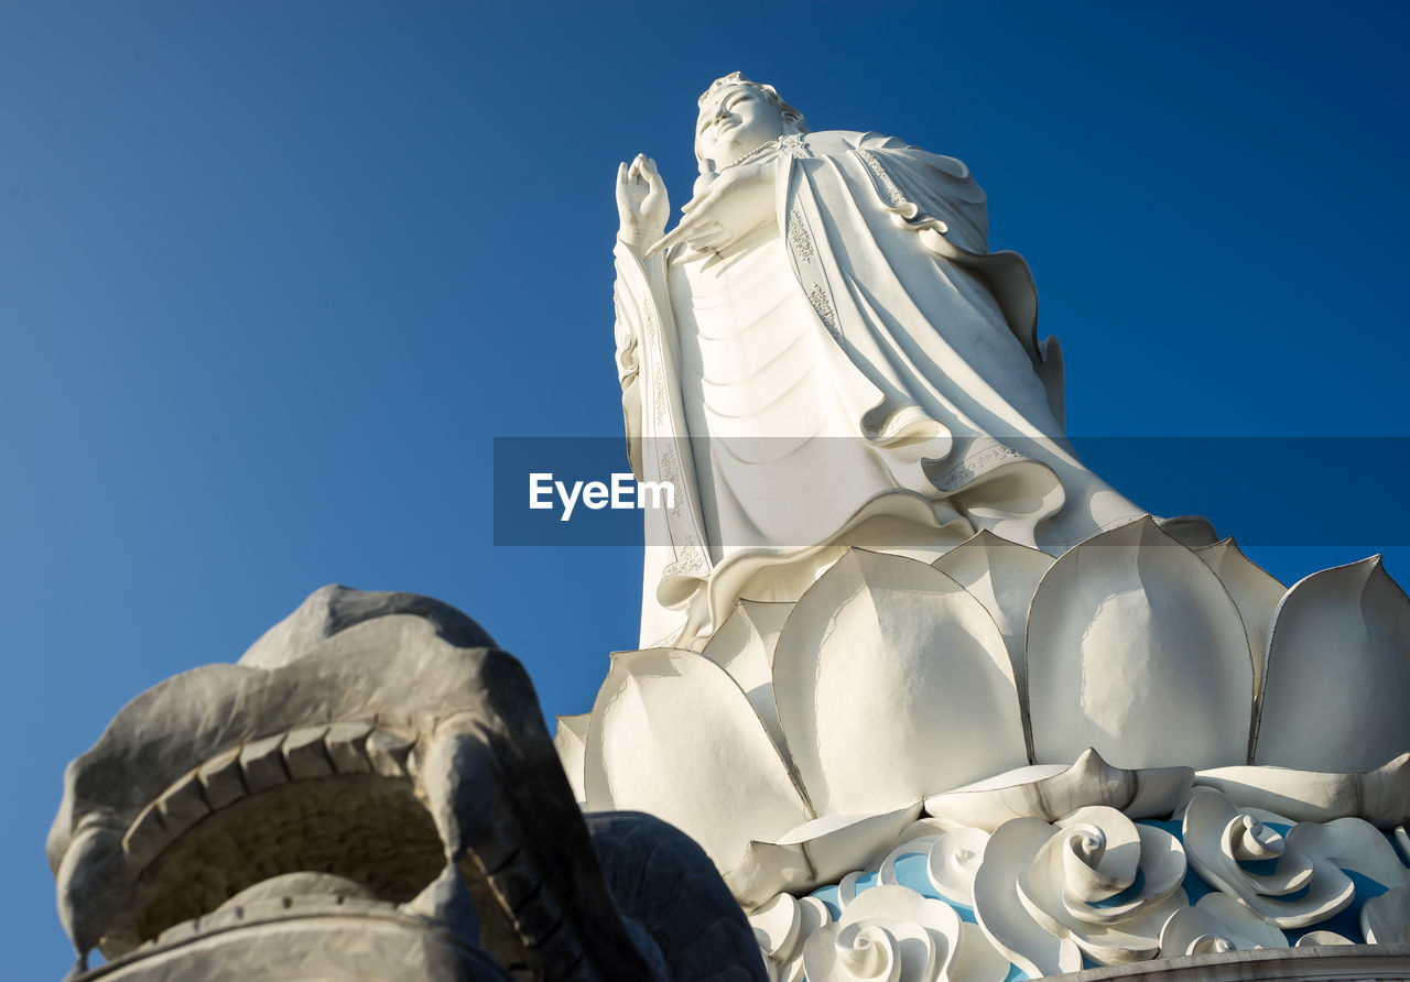
[[[557,744],[689,833],[778,979],[1410,979],[1410,602],[1152,520],[1053,559],[853,549]]]

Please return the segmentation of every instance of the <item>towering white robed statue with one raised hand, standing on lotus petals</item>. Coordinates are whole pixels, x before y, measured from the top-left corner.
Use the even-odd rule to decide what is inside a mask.
[[[1056,340],[962,162],[811,132],[737,72],[695,155],[670,234],[650,159],[616,185],[629,454],[677,487],[647,517],[643,648],[797,600],[849,545],[929,561],[988,530],[1058,555],[1144,514],[1067,445]]]

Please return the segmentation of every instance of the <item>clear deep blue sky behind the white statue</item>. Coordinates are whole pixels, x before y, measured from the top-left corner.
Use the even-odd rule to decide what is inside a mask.
[[[42,857],[63,764],[323,583],[441,597],[547,713],[591,706],[639,555],[495,548],[491,440],[619,433],[616,163],[651,154],[684,203],[725,72],[973,168],[1072,433],[1410,435],[1404,4],[677,10],[0,7],[8,978],[70,964]],[[1273,502],[1286,537],[1249,552],[1285,582],[1380,547],[1410,580],[1406,444],[1347,444],[1399,468],[1355,500],[1321,447],[1208,469],[1215,506],[1103,475],[1235,535]]]

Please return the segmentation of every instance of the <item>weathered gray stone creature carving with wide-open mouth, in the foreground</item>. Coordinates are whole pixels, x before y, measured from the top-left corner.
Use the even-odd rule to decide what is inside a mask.
[[[699,847],[585,821],[523,666],[407,593],[323,588],[134,699],[48,857],[85,979],[766,978]]]

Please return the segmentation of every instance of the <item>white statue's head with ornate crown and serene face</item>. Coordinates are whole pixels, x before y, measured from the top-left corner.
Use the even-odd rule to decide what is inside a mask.
[[[715,79],[699,97],[695,159],[701,175],[723,170],[749,152],[787,134],[808,132],[802,113],[770,85],[739,72]]]

